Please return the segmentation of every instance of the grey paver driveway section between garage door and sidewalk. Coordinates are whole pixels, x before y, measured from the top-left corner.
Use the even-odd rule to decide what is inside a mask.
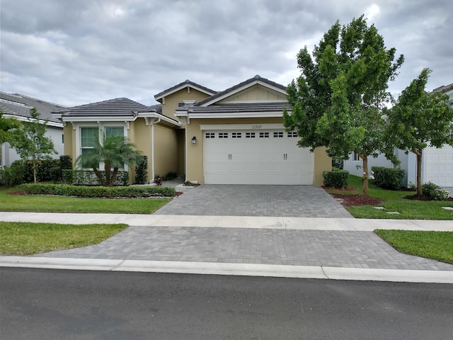
[[[157,215],[349,217],[317,186],[204,185],[185,189]]]

